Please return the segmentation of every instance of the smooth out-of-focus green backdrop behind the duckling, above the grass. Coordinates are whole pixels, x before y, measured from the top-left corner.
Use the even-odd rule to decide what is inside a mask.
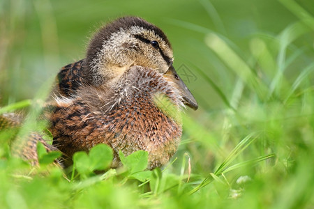
[[[299,1],[305,10],[313,1]],[[313,13],[313,10],[308,10]],[[208,75],[225,94],[232,95],[234,72],[205,44],[206,33],[220,33],[234,43],[244,61],[251,59],[257,33],[276,38],[298,17],[279,1],[24,1],[0,2],[1,104],[33,98],[36,89],[68,63],[82,59],[91,35],[105,22],[137,15],[159,26],[172,42],[174,66],[184,64],[195,74],[188,86],[206,111],[223,102],[195,67]],[[313,40],[297,40],[306,51],[300,60],[311,62]],[[227,56],[227,54],[226,54]],[[300,68],[291,66],[288,78]],[[197,114],[197,112],[195,112]]]

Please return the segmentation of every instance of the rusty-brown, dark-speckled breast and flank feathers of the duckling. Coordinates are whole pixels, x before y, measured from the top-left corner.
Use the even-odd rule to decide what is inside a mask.
[[[54,145],[68,156],[107,144],[114,150],[112,167],[120,165],[118,153],[130,155],[137,150],[149,152],[149,169],[166,164],[176,152],[181,124],[150,102],[139,102],[103,114],[90,111],[84,101],[76,100],[54,111],[50,131]],[[145,105],[142,105],[145,104]]]

